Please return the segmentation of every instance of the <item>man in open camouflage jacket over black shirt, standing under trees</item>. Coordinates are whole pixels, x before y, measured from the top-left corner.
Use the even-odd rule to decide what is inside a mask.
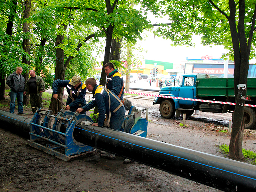
[[[32,107],[32,113],[36,113],[36,108],[43,108],[43,92],[44,92],[44,80],[42,77],[37,76],[35,70],[29,71],[30,77],[25,84],[23,94],[28,94],[30,97],[30,105]]]

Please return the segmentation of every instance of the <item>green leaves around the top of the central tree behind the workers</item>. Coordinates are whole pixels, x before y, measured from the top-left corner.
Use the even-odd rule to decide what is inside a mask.
[[[135,43],[137,38],[141,39],[140,33],[145,28],[151,27],[142,11],[133,8],[135,3],[135,1],[131,3],[131,1],[127,0],[118,1],[112,12],[107,12],[105,2],[85,3],[80,6],[81,20],[79,23],[90,23],[94,26],[96,28],[96,37],[105,37],[104,29],[112,25],[114,26],[114,38],[120,37],[120,39],[124,38],[128,42]],[[88,8],[93,8],[97,11],[88,10]]]

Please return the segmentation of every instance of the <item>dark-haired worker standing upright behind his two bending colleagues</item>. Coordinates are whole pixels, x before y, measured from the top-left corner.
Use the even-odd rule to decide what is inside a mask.
[[[108,62],[104,65],[105,73],[107,74],[106,87],[115,93],[121,100],[124,97],[124,79],[121,74],[115,69],[113,63]]]

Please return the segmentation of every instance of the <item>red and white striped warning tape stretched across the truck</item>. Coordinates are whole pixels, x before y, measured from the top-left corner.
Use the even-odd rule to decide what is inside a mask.
[[[206,102],[206,103],[220,103],[220,104],[227,104],[227,105],[236,105],[236,103],[223,102],[223,101],[191,99],[191,98],[184,98],[184,97],[172,97],[172,96],[166,96],[166,95],[153,95],[153,94],[148,94],[148,93],[137,93],[137,92],[127,92],[127,91],[125,91],[124,93],[130,93],[130,94],[136,94],[136,95],[144,95],[144,96],[151,96],[151,97],[163,97],[163,98],[170,98],[170,99],[181,99],[181,100],[189,100],[189,101],[201,101],[201,102]],[[250,104],[245,104],[244,106],[256,107],[256,105],[250,105]]]

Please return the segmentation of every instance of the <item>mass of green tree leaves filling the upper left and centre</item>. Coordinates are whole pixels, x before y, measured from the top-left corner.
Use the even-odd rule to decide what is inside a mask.
[[[113,6],[113,2],[109,3]],[[117,1],[111,11],[104,1],[35,1],[31,5],[30,17],[25,20],[23,2],[14,5],[11,0],[0,0],[0,4],[2,76],[15,71],[17,66],[21,66],[24,73],[34,68],[36,74],[43,77],[46,88],[51,87],[54,80],[51,73],[55,68],[55,60],[63,61],[65,68],[67,67],[63,77],[65,79],[79,75],[85,80],[92,76],[97,65],[92,57],[96,48],[94,43],[100,37],[106,37],[106,29],[110,25],[114,28],[113,37],[132,43],[137,38],[141,39],[140,33],[144,29],[152,27],[143,12],[133,8],[136,1]],[[5,34],[8,20],[13,21],[12,36]],[[20,27],[24,22],[29,25],[28,33],[23,33]],[[84,42],[93,33],[93,41]],[[55,45],[57,35],[62,35],[64,39]],[[22,49],[24,38],[29,39],[30,55]],[[63,50],[63,58],[56,58],[56,48]],[[30,61],[30,66],[22,64],[22,57]],[[66,64],[69,60],[69,64]],[[115,64],[122,68],[120,62],[115,61]]]

